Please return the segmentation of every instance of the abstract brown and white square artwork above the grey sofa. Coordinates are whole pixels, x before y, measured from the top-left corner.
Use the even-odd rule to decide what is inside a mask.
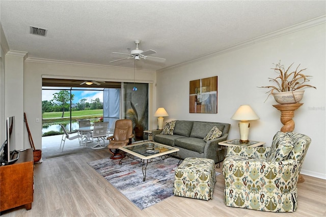
[[[189,82],[189,113],[218,113],[218,76]]]

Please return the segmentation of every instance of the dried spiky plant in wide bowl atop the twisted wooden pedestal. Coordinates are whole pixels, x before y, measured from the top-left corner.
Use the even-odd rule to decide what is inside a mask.
[[[275,100],[280,104],[291,104],[299,102],[304,94],[304,90],[302,88],[315,88],[311,85],[306,84],[310,80],[308,79],[311,77],[310,75],[305,75],[302,72],[305,69],[299,70],[300,64],[296,67],[295,71],[290,71],[292,63],[286,70],[284,65],[281,64],[281,61],[278,64],[274,64],[275,68],[274,71],[278,74],[276,78],[268,78],[269,82],[275,82],[276,86],[263,86],[259,88],[268,88],[271,89],[266,93],[269,93],[267,98],[270,95],[273,95]],[[266,100],[267,100],[266,98]],[[266,101],[265,100],[265,101]]]

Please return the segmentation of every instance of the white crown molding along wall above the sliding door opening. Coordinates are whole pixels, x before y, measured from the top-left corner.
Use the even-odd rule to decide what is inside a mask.
[[[133,68],[127,67],[118,67],[118,66],[106,66],[99,64],[91,64],[91,63],[79,63],[79,62],[70,62],[70,61],[62,61],[62,60],[49,60],[49,59],[41,59],[41,58],[27,58],[25,62],[31,63],[43,63],[43,64],[55,64],[55,65],[68,65],[68,66],[79,66],[79,67],[92,67],[92,68],[101,68],[101,69],[124,69],[124,70],[133,70]],[[137,71],[144,72],[155,72],[153,70],[147,69],[136,69]]]

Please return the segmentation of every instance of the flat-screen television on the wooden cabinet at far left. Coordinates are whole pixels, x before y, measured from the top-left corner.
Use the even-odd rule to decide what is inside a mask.
[[[7,140],[4,144],[4,154],[1,158],[2,164],[12,164],[19,158],[19,152],[15,150],[15,117],[7,118],[6,124]]]

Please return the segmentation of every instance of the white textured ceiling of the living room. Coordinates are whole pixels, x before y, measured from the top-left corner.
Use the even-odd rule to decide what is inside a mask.
[[[326,14],[325,1],[4,1],[11,50],[41,58],[133,68],[115,52],[153,49],[137,68],[159,70]],[[30,25],[47,36],[29,34]]]

